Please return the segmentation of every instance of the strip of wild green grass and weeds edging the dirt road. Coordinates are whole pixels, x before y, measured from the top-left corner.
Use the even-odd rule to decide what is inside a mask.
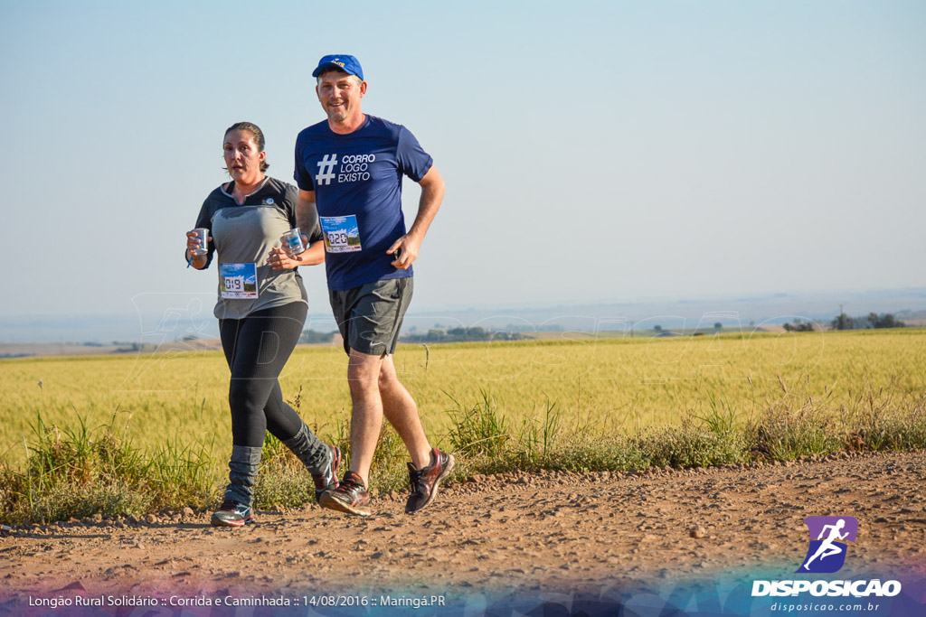
[[[565,422],[553,403],[511,430],[490,393],[475,401],[454,400],[451,448],[459,461],[455,477],[540,469],[630,471],[647,467],[706,467],[727,463],[787,461],[838,451],[926,450],[926,396],[900,401],[883,391],[859,396],[856,410],[834,410],[788,400],[757,415],[745,426],[721,417],[689,415],[676,428],[648,428],[635,434],[589,438],[584,427]],[[41,415],[24,447],[27,464],[16,471],[0,466],[0,522],[47,523],[69,517],[139,515],[162,508],[214,506],[224,487],[207,444],[167,441],[145,452],[118,426],[91,428],[79,417],[73,429],[47,426]],[[349,426],[324,436],[344,450]],[[391,428],[382,436],[373,462],[371,487],[406,487],[406,452]],[[267,438],[256,488],[257,508],[299,506],[313,499],[310,477],[289,450]]]

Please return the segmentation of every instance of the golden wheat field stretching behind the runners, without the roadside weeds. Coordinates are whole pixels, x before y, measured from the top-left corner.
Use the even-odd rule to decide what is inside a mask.
[[[874,392],[902,406],[926,392],[926,329],[661,339],[573,332],[543,341],[405,345],[395,364],[437,443],[455,400],[473,404],[482,392],[510,426],[555,404],[594,438],[678,425],[717,409],[745,421],[784,399],[853,413]],[[297,349],[281,376],[284,398],[322,436],[350,412],[345,372],[346,356],[332,345]],[[39,413],[62,429],[80,426],[80,418],[91,428],[115,418],[143,449],[205,440],[224,452],[228,382],[220,352],[0,361],[0,458],[25,458]]]

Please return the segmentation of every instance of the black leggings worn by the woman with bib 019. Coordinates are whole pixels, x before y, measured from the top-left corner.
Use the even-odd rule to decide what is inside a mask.
[[[292,302],[244,319],[219,319],[222,350],[232,369],[234,445],[260,448],[268,430],[283,441],[302,427],[299,414],[283,401],[277,377],[299,341],[307,312],[304,302]]]

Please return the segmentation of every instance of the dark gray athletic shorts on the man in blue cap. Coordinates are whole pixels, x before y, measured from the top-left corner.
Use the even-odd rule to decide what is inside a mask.
[[[344,352],[394,353],[414,288],[414,278],[407,277],[378,280],[352,290],[329,290]]]

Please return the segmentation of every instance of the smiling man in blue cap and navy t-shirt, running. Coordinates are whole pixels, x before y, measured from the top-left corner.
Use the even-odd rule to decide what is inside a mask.
[[[329,299],[349,356],[353,402],[350,469],[319,504],[369,513],[369,467],[385,415],[411,455],[406,512],[417,512],[434,499],[454,457],[432,448],[418,407],[395,374],[393,353],[411,301],[411,265],[441,206],[444,179],[409,130],[363,113],[367,82],[356,57],[324,56],[312,77],[328,118],[296,139],[296,219],[301,224],[305,216],[308,223],[318,208]],[[403,176],[421,186],[418,216],[407,232]]]

